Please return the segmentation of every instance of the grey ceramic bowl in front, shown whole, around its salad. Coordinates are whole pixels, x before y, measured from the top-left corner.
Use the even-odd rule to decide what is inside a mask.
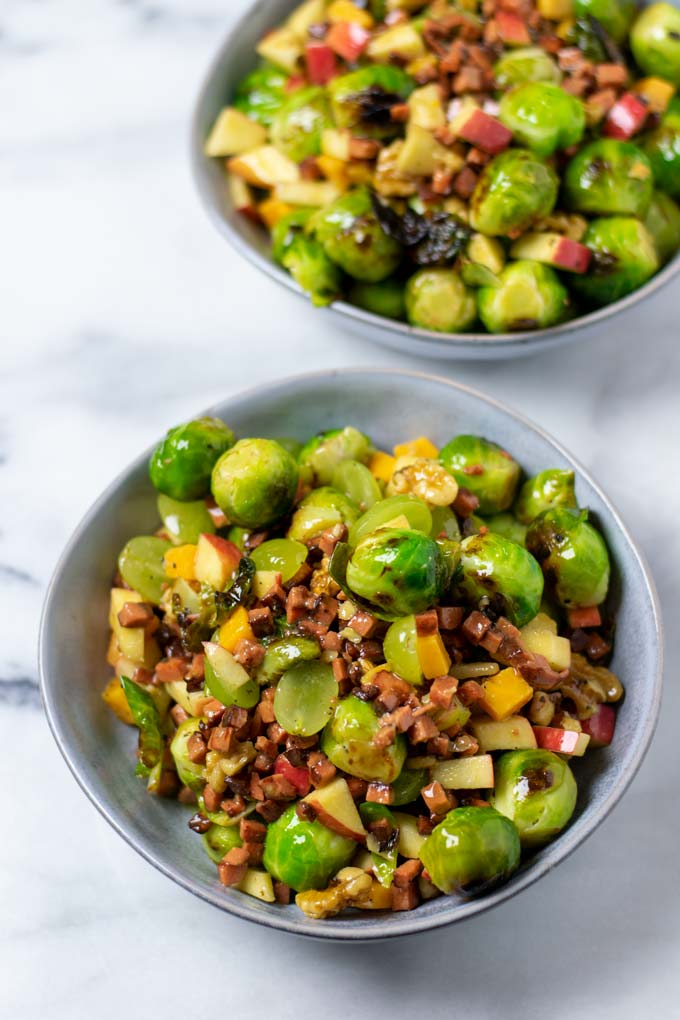
[[[320,938],[361,940],[407,934],[471,917],[526,888],[592,832],[626,789],[649,744],[661,686],[661,620],[653,586],[615,509],[569,454],[495,401],[443,378],[409,372],[321,372],[258,387],[210,413],[240,436],[305,439],[352,423],[381,447],[419,435],[443,444],[461,431],[500,441],[529,473],[576,471],[579,503],[590,507],[614,561],[618,630],[614,668],[626,685],[613,745],[579,761],[579,802],[570,827],[508,884],[477,900],[441,897],[413,913],[313,921],[296,907],[267,905],[221,886],[215,866],[187,826],[187,809],[149,797],[134,775],[136,733],[104,706],[111,574],[130,536],[158,525],[147,475],[149,452],[112,483],[71,538],[50,585],[40,638],[43,698],[54,736],[81,786],[117,832],[185,888],[239,917]],[[587,851],[586,851],[587,853]]]

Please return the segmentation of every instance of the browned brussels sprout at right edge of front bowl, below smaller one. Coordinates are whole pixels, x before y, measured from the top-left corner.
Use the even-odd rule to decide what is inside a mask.
[[[529,525],[526,547],[560,605],[598,606],[607,598],[610,557],[587,510],[556,507]]]

